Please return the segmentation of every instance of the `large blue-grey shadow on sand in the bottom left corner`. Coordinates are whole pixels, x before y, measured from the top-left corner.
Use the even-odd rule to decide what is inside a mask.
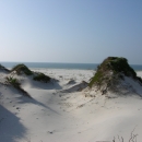
[[[24,138],[26,128],[14,114],[0,105],[0,142],[15,142]]]

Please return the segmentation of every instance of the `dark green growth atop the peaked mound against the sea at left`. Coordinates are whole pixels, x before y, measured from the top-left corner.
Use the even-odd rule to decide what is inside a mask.
[[[25,64],[15,66],[11,72],[16,71],[17,74],[25,73],[26,75],[32,75],[33,72]]]

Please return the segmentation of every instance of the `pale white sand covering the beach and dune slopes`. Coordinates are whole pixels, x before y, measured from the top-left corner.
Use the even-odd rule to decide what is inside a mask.
[[[85,92],[78,90],[82,81],[88,82],[94,71],[34,71],[58,81],[45,84],[16,76],[34,99],[0,84],[0,142],[95,142],[113,141],[114,137],[119,142],[118,135],[128,142],[133,130],[141,142],[141,86],[134,86],[139,95],[85,97]],[[142,76],[141,71],[138,74]],[[0,72],[0,82],[7,75]]]

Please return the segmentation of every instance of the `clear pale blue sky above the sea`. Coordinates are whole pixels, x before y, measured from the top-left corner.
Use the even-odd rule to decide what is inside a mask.
[[[142,0],[0,0],[0,61],[142,64]]]

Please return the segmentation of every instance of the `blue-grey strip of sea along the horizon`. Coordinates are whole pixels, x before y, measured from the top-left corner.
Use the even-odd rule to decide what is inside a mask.
[[[99,63],[56,63],[56,62],[0,62],[5,68],[13,68],[19,63],[24,63],[28,68],[44,69],[78,69],[78,70],[96,70]],[[135,71],[142,71],[142,64],[130,64]]]

